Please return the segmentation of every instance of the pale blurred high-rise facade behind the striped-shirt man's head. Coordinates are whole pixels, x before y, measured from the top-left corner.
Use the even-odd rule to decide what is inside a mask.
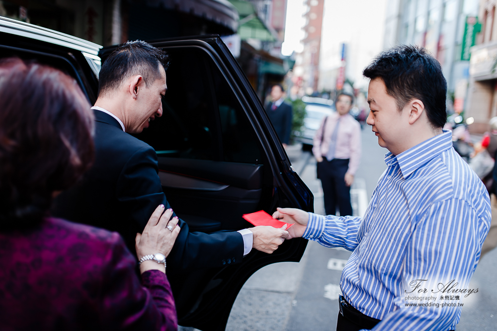
[[[470,61],[462,56],[467,16],[478,15],[479,0],[388,0],[383,48],[425,47],[442,65],[449,113],[468,109]],[[455,102],[454,102],[455,101]]]

